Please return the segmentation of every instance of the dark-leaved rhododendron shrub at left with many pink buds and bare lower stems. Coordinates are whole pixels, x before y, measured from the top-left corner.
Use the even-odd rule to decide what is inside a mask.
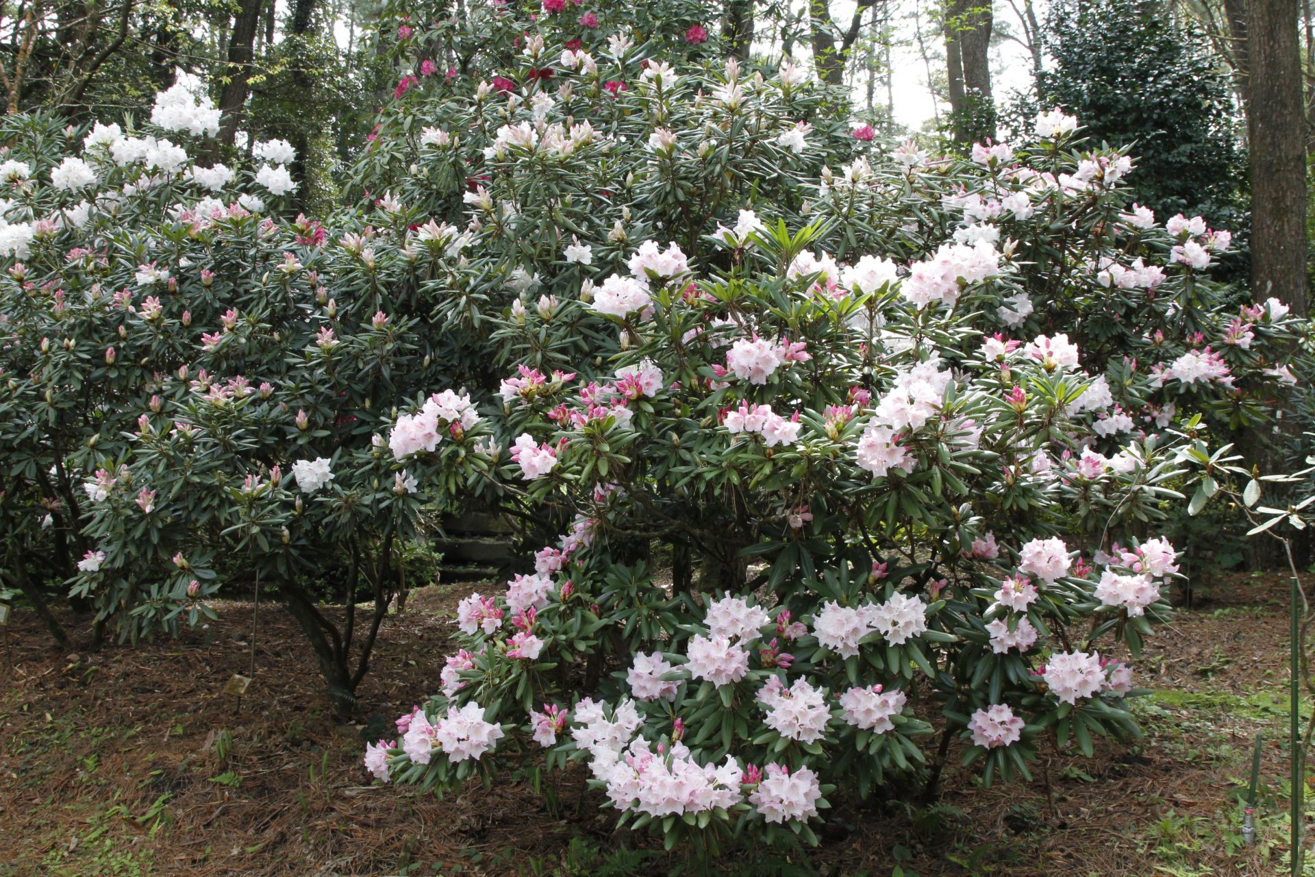
[[[350,707],[426,506],[492,467],[476,450],[483,418],[437,371],[442,338],[421,330],[417,305],[458,235],[401,226],[394,241],[348,217],[330,237],[280,217],[259,180],[291,160],[285,143],[256,143],[258,168],[212,175],[153,164],[168,149],[159,128],[13,124],[7,547],[47,563],[121,639],[210,615],[205,601],[230,582],[275,586]],[[60,185],[60,150],[92,180]],[[331,582],[346,619],[306,581]],[[358,625],[360,600],[373,609]]]

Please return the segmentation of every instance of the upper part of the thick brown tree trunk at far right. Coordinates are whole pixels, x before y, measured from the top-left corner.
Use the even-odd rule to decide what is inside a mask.
[[[1306,130],[1297,0],[1251,0],[1251,285],[1294,314],[1306,301]]]

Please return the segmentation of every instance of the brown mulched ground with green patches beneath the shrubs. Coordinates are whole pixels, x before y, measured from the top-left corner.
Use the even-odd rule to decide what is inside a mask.
[[[0,675],[0,876],[671,873],[681,860],[651,836],[613,832],[583,770],[556,777],[547,803],[514,777],[442,801],[367,784],[366,726],[437,688],[468,590],[416,592],[388,618],[359,726],[333,721],[276,604],[260,609],[241,711],[224,685],[250,660],[249,604],[217,605],[218,621],[180,640],[99,652],[53,651],[37,619],[16,613]],[[1043,756],[1022,785],[982,789],[951,768],[931,807],[834,802],[810,863],[757,851],[722,864],[830,877],[897,865],[922,877],[1278,873],[1286,598],[1282,577],[1235,576],[1164,628],[1137,661],[1160,690],[1140,707],[1137,744]],[[1262,843],[1235,849],[1258,730]]]

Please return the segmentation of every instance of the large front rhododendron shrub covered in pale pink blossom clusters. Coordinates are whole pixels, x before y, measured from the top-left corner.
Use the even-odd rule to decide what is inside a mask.
[[[650,238],[513,304],[504,333],[594,344],[509,368],[489,408],[508,490],[560,536],[462,602],[401,722],[479,705],[502,736],[476,756],[402,732],[375,776],[489,781],[546,749],[622,822],[710,849],[815,840],[838,788],[911,792],[939,774],[934,730],[988,781],[1135,736],[1122,656],[1182,567],[1159,530],[1245,475],[1208,423],[1281,401],[1308,326],[1224,305],[1187,245],[1227,234],[1161,227],[1126,202],[1130,159],[1056,130],[873,154],[823,175],[818,221],[710,235],[729,260]],[[1118,333],[1086,322],[1101,297]]]

